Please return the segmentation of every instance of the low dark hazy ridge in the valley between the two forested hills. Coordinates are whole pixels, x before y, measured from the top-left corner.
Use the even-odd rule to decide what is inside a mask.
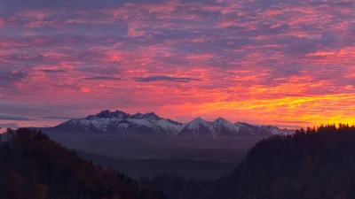
[[[231,162],[220,162],[216,160],[198,161],[186,158],[122,160],[85,153],[83,151],[76,152],[79,157],[92,159],[95,164],[110,166],[126,173],[133,179],[167,174],[170,176],[177,175],[186,179],[211,180],[232,172],[236,165]],[[241,156],[240,158],[242,159],[243,157],[244,156]]]

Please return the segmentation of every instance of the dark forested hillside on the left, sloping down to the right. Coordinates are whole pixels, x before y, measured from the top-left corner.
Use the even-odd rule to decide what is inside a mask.
[[[27,128],[0,142],[1,199],[157,199],[162,195],[120,172],[103,169]]]

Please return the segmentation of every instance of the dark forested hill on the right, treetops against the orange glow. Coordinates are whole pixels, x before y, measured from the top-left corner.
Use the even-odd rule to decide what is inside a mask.
[[[355,126],[275,135],[249,150],[233,173],[213,181],[161,176],[143,183],[170,199],[355,198]]]

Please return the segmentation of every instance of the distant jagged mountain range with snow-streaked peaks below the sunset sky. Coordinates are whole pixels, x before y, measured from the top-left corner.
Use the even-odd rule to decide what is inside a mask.
[[[76,132],[114,133],[122,136],[192,136],[192,137],[231,137],[236,135],[272,135],[293,134],[294,130],[280,129],[277,126],[254,126],[243,122],[231,123],[218,118],[206,121],[196,118],[188,123],[181,123],[172,119],[164,119],[154,112],[130,115],[123,111],[100,111],[83,119],[70,119],[54,126],[52,130],[66,130]]]

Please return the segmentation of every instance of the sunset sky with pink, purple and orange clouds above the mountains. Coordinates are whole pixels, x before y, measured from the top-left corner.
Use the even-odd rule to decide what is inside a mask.
[[[352,0],[0,1],[0,127],[102,110],[355,124]]]

